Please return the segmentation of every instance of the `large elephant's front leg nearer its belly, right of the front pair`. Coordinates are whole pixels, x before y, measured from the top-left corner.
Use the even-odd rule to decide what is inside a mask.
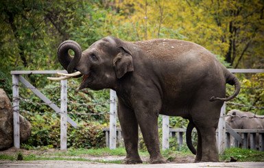
[[[143,139],[149,152],[149,160],[147,162],[151,164],[166,163],[160,153],[158,115],[149,115],[141,112],[140,115],[136,115],[136,119],[139,122]]]

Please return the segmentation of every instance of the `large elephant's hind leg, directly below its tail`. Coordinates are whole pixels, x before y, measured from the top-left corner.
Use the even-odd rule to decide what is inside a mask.
[[[191,117],[200,132],[201,140],[199,141],[200,149],[197,149],[197,153],[200,152],[200,154],[197,155],[195,161],[218,162],[219,154],[215,135],[223,101],[208,101],[211,95],[216,95],[215,93],[208,93],[208,89],[197,91],[195,100],[198,101],[193,104],[191,110]],[[206,95],[203,93],[206,93]],[[219,94],[219,97],[224,97],[224,92]]]

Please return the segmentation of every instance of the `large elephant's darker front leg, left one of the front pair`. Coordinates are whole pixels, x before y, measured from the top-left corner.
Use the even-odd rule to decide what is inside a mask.
[[[122,163],[136,164],[142,163],[139,156],[139,125],[136,121],[136,116],[132,110],[126,108],[119,101],[118,117],[122,129],[123,140],[125,143],[126,158]]]

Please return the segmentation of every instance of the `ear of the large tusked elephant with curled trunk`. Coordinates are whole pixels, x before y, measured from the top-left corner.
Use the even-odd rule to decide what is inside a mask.
[[[113,63],[115,73],[119,79],[123,77],[125,73],[134,71],[132,53],[124,47],[120,47],[120,52],[114,58]]]

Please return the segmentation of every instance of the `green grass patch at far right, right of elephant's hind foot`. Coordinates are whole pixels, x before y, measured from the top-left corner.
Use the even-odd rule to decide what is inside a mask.
[[[238,161],[254,161],[254,162],[263,162],[264,161],[264,152],[251,150],[251,149],[241,149],[232,147],[230,149],[225,149],[224,153],[220,155],[220,160],[229,161],[230,157],[233,156]]]

